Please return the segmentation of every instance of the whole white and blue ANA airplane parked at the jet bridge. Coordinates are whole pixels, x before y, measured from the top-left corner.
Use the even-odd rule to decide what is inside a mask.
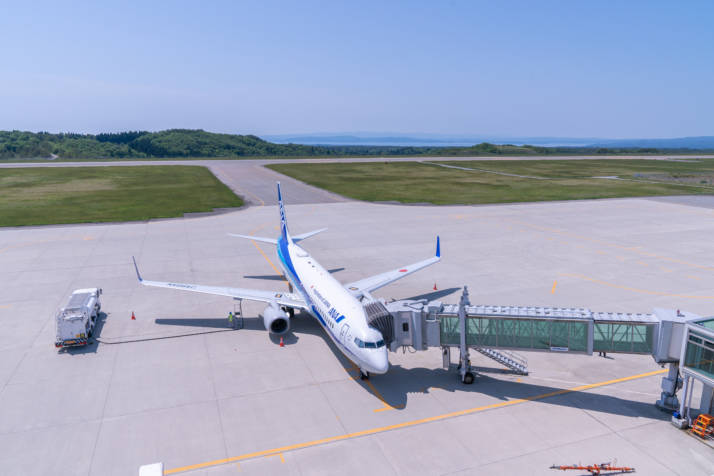
[[[296,309],[307,311],[317,319],[340,352],[359,367],[362,379],[369,378],[370,373],[386,373],[389,369],[387,347],[382,333],[369,325],[365,309],[367,304],[376,301],[370,293],[439,262],[441,260],[439,237],[436,237],[436,254],[431,258],[343,285],[298,245],[299,242],[327,228],[292,236],[285,218],[280,182],[277,186],[280,237],[273,239],[232,233],[229,235],[274,245],[284,276],[289,282],[290,292],[148,281],[141,277],[136,259],[132,256],[139,282],[144,286],[265,302],[267,307],[262,313],[263,323],[266,330],[275,335],[283,335],[290,330],[290,318],[294,316]]]

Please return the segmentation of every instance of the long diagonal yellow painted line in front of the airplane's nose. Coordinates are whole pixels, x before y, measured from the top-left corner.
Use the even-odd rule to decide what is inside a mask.
[[[637,380],[637,379],[641,379],[641,378],[645,378],[645,377],[652,377],[653,375],[660,375],[665,372],[667,372],[667,370],[655,370],[653,372],[646,372],[643,374],[631,375],[629,377],[622,377],[622,378],[613,379],[613,380],[606,380],[604,382],[591,383],[591,384],[587,384],[587,385],[580,385],[578,387],[556,390],[554,392],[544,393],[542,395],[536,395],[533,397],[518,398],[515,400],[508,400],[506,402],[492,403],[490,405],[484,405],[481,407],[467,408],[465,410],[459,410],[459,411],[450,412],[450,413],[443,413],[441,415],[435,415],[435,416],[427,417],[427,418],[420,418],[418,420],[405,421],[403,423],[397,423],[395,425],[380,426],[380,427],[376,427],[376,428],[369,428],[367,430],[355,431],[353,433],[345,433],[343,435],[328,436],[327,438],[322,438],[319,440],[306,441],[303,443],[296,443],[294,445],[281,446],[279,448],[271,448],[271,449],[262,450],[262,451],[255,451],[253,453],[245,453],[245,454],[242,454],[239,456],[231,456],[230,458],[216,459],[213,461],[206,461],[203,463],[196,463],[196,464],[191,464],[191,465],[187,465],[187,466],[181,466],[179,468],[168,469],[168,470],[164,471],[164,474],[183,473],[186,471],[193,471],[193,470],[197,470],[197,469],[209,468],[212,466],[219,466],[222,464],[234,463],[237,461],[254,459],[254,458],[259,458],[259,457],[263,457],[263,456],[277,455],[280,453],[284,453],[286,451],[295,451],[295,450],[300,450],[303,448],[309,448],[312,446],[324,445],[327,443],[334,443],[336,441],[344,441],[344,440],[349,440],[352,438],[359,438],[362,436],[375,435],[377,433],[384,433],[384,432],[391,431],[391,430],[399,430],[401,428],[409,428],[412,426],[423,425],[425,423],[432,423],[435,421],[446,420],[447,418],[454,418],[454,417],[458,417],[458,416],[470,415],[473,413],[478,413],[478,412],[482,412],[482,411],[486,411],[486,410],[493,410],[496,408],[503,408],[503,407],[509,407],[512,405],[518,405],[520,403],[532,402],[535,400],[542,400],[544,398],[555,397],[557,395],[565,395],[567,393],[572,393],[572,392],[582,392],[584,390],[590,390],[593,388],[604,387],[606,385],[612,385],[615,383],[629,382],[631,380]]]

